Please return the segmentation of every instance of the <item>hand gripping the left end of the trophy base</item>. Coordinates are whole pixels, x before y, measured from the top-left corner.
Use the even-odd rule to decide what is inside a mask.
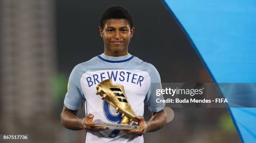
[[[92,115],[91,113],[88,114],[86,117],[82,118],[81,128],[86,130],[87,132],[103,131],[105,129],[108,129],[107,127],[94,126],[97,124],[97,122],[92,122],[93,118],[94,115]]]

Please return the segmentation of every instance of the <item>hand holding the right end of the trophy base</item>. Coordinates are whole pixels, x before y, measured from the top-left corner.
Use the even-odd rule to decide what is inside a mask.
[[[125,133],[128,133],[132,136],[142,136],[144,133],[147,132],[148,125],[146,121],[144,121],[144,118],[142,116],[136,116],[138,121],[138,125],[140,126],[140,129],[138,130],[127,130],[127,129],[122,129],[121,131],[124,131]]]

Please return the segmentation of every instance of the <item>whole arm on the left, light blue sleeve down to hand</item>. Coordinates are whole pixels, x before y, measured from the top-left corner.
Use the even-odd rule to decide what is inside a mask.
[[[61,112],[61,124],[70,130],[102,131],[105,127],[94,126],[94,115],[88,114],[84,118],[78,118],[78,109],[82,107],[85,100],[80,84],[81,70],[79,65],[74,67],[67,86],[67,94],[64,99],[64,107]]]

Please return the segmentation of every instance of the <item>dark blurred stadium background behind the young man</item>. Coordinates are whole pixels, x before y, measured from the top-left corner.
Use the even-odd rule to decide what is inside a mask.
[[[129,52],[153,64],[162,82],[212,82],[160,0],[0,0],[0,134],[29,134],[31,143],[84,143],[85,131],[62,127],[60,113],[73,67],[104,51],[99,20],[112,5],[133,14]],[[145,143],[241,142],[225,108],[173,110],[173,121],[146,133]]]

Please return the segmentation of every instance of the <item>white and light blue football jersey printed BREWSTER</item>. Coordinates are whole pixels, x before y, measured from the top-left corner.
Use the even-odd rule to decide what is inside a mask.
[[[116,113],[113,106],[95,94],[97,84],[105,79],[112,79],[113,85],[124,86],[128,102],[139,116],[143,116],[144,100],[148,110],[152,112],[159,112],[164,108],[164,104],[156,104],[156,98],[162,97],[156,96],[156,89],[161,89],[156,68],[131,54],[122,57],[101,54],[74,67],[69,76],[64,105],[71,110],[78,110],[85,100],[85,114],[93,114],[94,121],[120,123],[121,113]],[[130,124],[136,125],[134,122]],[[87,132],[86,143],[109,142],[143,143],[143,136],[131,136],[120,130]]]

